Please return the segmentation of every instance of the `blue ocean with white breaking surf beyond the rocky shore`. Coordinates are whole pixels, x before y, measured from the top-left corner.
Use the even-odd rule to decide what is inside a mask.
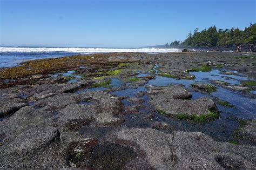
[[[0,47],[0,67],[16,66],[26,60],[65,57],[77,54],[90,55],[93,53],[109,52],[146,52],[163,53],[177,52],[179,49],[160,49],[160,48],[93,48],[93,47]]]

